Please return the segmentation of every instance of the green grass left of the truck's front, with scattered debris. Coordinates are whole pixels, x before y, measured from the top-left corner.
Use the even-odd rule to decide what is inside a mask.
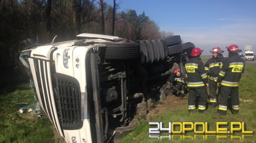
[[[15,103],[35,103],[35,93],[28,77],[1,78],[0,84],[0,143],[65,143],[52,123],[40,114],[19,113]],[[25,108],[24,108],[25,110]]]

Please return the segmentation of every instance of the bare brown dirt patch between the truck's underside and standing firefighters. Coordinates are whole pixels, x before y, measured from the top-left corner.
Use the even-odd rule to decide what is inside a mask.
[[[181,97],[177,97],[175,95],[168,96],[164,103],[157,104],[156,106],[153,104],[149,105],[149,111],[146,116],[146,120],[150,120],[151,117],[157,117],[159,112],[166,111],[167,108],[187,108],[187,99],[185,96],[183,99]]]

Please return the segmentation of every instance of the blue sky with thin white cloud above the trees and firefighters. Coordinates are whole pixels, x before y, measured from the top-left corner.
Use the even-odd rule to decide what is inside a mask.
[[[113,0],[104,0],[113,6]],[[116,0],[117,12],[145,12],[162,31],[180,35],[211,55],[220,47],[228,55],[227,46],[236,44],[242,50],[252,45],[256,53],[256,0]]]

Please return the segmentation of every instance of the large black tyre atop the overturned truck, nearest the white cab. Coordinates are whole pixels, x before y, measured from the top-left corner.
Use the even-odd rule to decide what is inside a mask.
[[[140,45],[134,42],[118,42],[106,44],[105,59],[132,60],[141,56]]]

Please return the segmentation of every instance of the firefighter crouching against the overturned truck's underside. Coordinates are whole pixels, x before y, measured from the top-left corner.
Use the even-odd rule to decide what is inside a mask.
[[[184,97],[185,91],[186,91],[186,78],[185,75],[181,73],[181,70],[179,68],[175,68],[173,70],[173,73],[175,74],[174,81],[172,82],[173,86],[181,91],[177,91],[175,88],[173,88],[172,93]]]

